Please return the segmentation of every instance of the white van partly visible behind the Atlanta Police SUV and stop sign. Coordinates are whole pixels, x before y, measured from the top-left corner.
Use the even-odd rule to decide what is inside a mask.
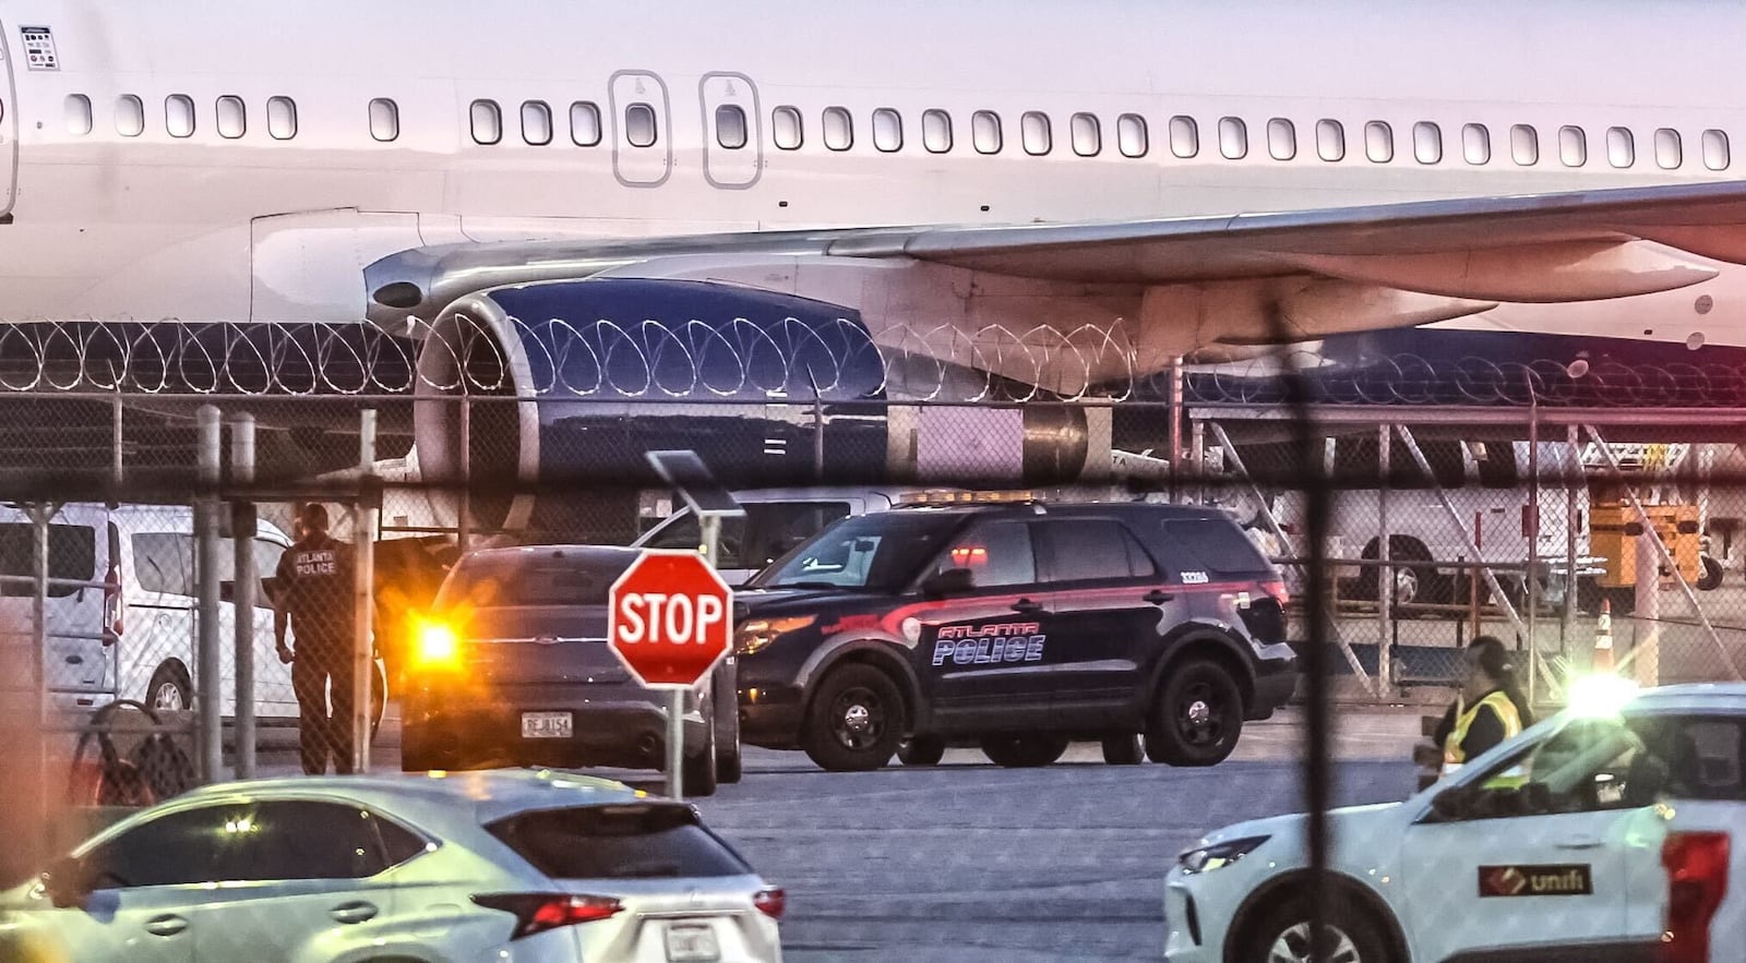
[[[744,518],[721,523],[721,577],[744,584],[787,550],[810,539],[821,529],[850,515],[868,515],[894,508],[904,495],[941,490],[922,487],[889,488],[758,488],[733,492],[746,509]],[[634,548],[677,548],[695,551],[702,544],[697,516],[690,508],[669,515],[634,543]]]

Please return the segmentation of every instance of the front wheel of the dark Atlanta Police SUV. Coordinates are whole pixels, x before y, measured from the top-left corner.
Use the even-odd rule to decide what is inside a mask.
[[[903,693],[870,665],[831,670],[807,705],[800,747],[831,773],[866,773],[890,762],[903,740]]]

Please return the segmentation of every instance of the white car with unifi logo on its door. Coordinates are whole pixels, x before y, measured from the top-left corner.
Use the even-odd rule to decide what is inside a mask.
[[[1329,822],[1329,960],[1741,960],[1746,684],[1592,677],[1406,802]],[[1310,960],[1306,827],[1238,823],[1182,853],[1166,960]]]

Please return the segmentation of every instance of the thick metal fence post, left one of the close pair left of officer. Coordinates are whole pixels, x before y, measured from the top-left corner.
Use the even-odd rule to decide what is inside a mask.
[[[218,668],[218,482],[220,482],[220,422],[215,405],[201,405],[194,415],[199,452],[196,478],[199,494],[194,502],[194,581],[196,581],[196,647],[194,647],[194,705],[199,707],[199,775],[201,782],[218,782],[223,766],[223,686]]]

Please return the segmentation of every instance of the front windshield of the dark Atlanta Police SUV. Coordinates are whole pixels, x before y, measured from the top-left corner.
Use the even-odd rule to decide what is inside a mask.
[[[751,586],[894,591],[934,560],[962,518],[925,509],[845,518],[765,569]]]

